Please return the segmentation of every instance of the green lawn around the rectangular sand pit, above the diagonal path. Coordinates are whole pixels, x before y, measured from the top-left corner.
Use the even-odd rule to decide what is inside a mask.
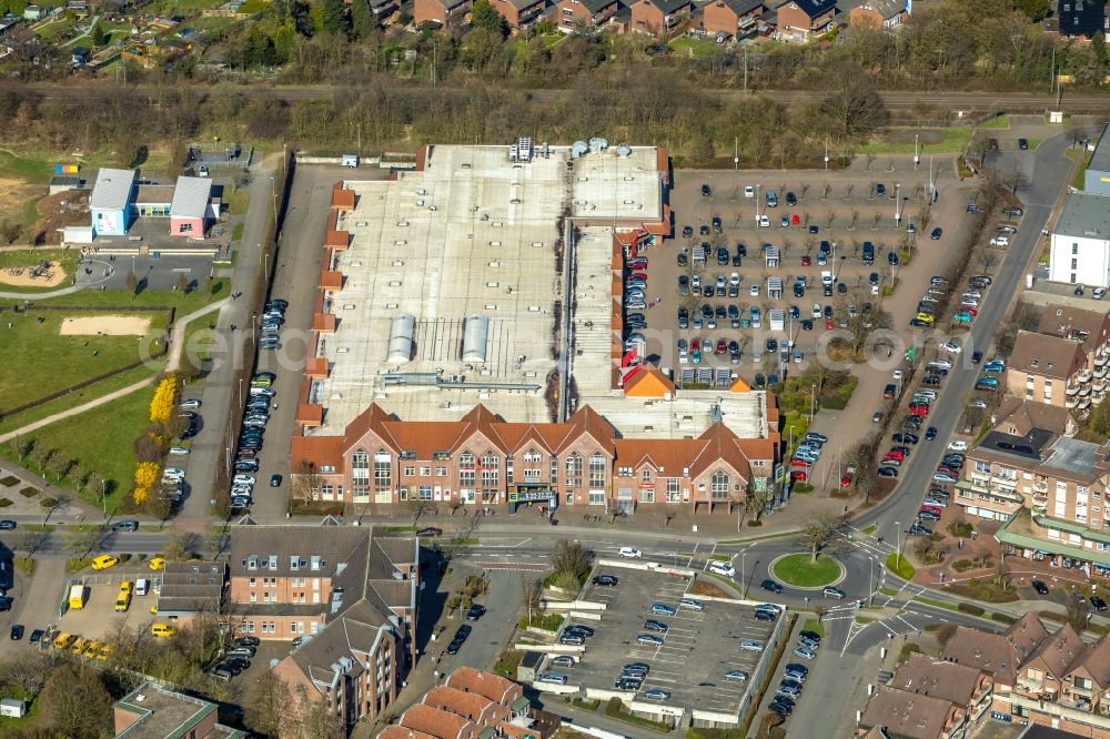
[[[6,312],[0,318],[0,409],[41,397],[82,379],[111,372],[139,358],[137,336],[62,336],[62,321],[99,312]],[[164,313],[131,314],[149,317],[148,335],[160,336]],[[10,324],[10,327],[9,327]],[[143,343],[145,345],[145,343]],[[33,377],[33,384],[29,379]]]

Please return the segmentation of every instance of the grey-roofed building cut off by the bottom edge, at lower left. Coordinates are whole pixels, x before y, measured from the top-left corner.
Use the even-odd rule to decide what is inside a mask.
[[[219,723],[216,703],[144,681],[112,705],[119,739],[243,739]]]

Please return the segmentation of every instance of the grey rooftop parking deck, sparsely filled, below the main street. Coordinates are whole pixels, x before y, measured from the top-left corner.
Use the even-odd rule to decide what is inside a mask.
[[[568,676],[568,685],[583,689],[587,697],[607,698],[622,695],[637,711],[645,705],[657,703],[677,710],[704,710],[736,715],[744,705],[745,694],[756,681],[759,662],[773,651],[771,637],[777,622],[758,621],[750,606],[724,600],[699,599],[702,611],[679,608],[693,578],[599,564],[596,574],[619,578],[616,587],[587,585],[582,599],[606,605],[601,620],[571,619],[595,629],[586,640],[586,650],[573,668],[545,668]],[[675,609],[674,615],[655,614],[653,605]],[[653,619],[665,624],[660,634],[645,628]],[[637,642],[639,635],[659,637],[662,645]],[[763,650],[744,650],[740,639],[764,645]],[[622,668],[629,662],[644,662],[649,672],[638,691],[619,691],[614,687]],[[741,670],[748,679],[726,679],[730,670]],[[665,699],[652,700],[646,691],[662,689]]]

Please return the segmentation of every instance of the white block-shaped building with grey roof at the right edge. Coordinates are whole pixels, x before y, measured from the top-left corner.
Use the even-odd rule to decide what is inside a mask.
[[[1107,149],[1101,141],[1099,145]],[[1052,282],[1110,286],[1110,200],[1100,194],[1110,190],[1110,183],[1102,183],[1101,176],[1099,183],[1091,183],[1098,185],[1094,191],[1073,192],[1063,201],[1049,252],[1048,279]]]

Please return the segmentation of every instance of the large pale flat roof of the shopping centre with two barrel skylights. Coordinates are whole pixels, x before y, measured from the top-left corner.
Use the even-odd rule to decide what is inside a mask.
[[[456,419],[477,403],[509,421],[551,419],[544,389],[555,370],[554,308],[564,293],[556,256],[562,215],[569,210],[619,225],[659,221],[663,213],[655,148],[586,154],[573,169],[569,160],[566,146],[552,148],[546,159],[537,151],[529,163],[509,162],[507,145],[431,146],[422,171],[344,183],[355,207],[340,212],[335,227],[349,232],[350,245],[325,265],[344,275],[324,306],[339,324],[321,337],[317,356],[331,372],[313,381],[309,399],[324,406],[324,423],[307,434],[342,434],[371,403],[422,421]],[[604,342],[587,350],[604,363],[606,377],[610,233],[599,229],[597,253],[578,257],[579,265],[588,262],[579,275],[594,275],[588,286],[596,294],[578,310],[598,321],[608,311],[596,336]],[[411,361],[391,364],[393,320],[402,315],[414,318],[414,351]],[[484,363],[462,360],[471,316],[488,320]],[[392,384],[391,373],[433,379]],[[465,385],[447,389],[435,376]]]

